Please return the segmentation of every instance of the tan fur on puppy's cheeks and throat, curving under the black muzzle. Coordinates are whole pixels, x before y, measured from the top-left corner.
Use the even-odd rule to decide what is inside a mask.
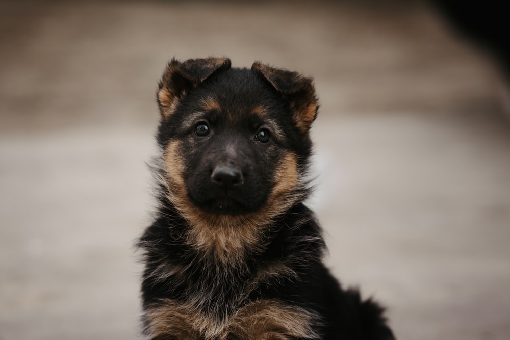
[[[265,246],[262,242],[263,226],[295,202],[296,198],[290,194],[298,185],[295,156],[288,153],[277,165],[275,186],[260,211],[231,216],[202,211],[189,201],[180,148],[179,141],[168,144],[164,155],[166,178],[163,180],[168,187],[168,199],[191,225],[188,242],[196,249],[212,254],[222,264],[238,264],[246,250],[262,249]]]

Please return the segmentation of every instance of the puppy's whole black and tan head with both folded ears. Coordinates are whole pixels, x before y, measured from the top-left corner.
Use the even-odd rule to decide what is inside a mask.
[[[167,197],[192,224],[263,224],[308,193],[312,80],[226,58],[172,60],[157,93]]]

